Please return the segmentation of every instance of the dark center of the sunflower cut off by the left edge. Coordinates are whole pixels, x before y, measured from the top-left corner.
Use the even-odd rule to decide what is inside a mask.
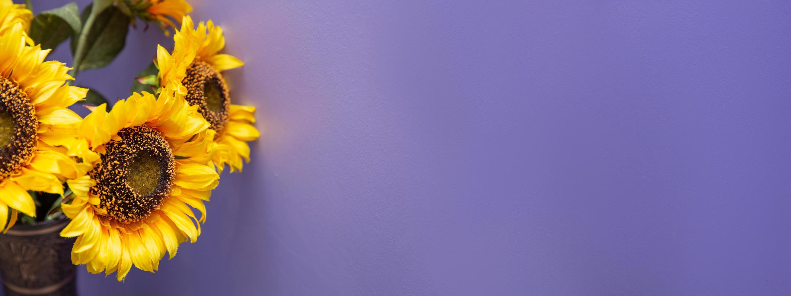
[[[36,109],[16,82],[0,78],[0,180],[33,157],[38,142]]]

